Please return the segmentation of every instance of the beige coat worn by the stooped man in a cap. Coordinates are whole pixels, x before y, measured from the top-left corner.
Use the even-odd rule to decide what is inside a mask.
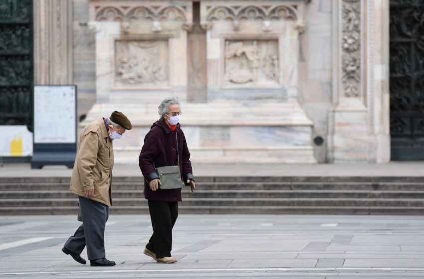
[[[111,206],[112,168],[113,144],[101,118],[81,132],[70,190],[81,197],[85,197],[85,191],[94,190],[89,199]]]

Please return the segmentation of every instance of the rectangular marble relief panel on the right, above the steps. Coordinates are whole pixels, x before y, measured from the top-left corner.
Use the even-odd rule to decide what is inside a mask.
[[[225,41],[224,86],[275,87],[279,73],[277,40]]]

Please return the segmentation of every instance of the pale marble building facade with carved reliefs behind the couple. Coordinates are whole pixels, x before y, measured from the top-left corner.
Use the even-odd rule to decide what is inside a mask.
[[[170,95],[193,161],[390,160],[385,0],[72,2],[81,127],[113,110],[134,125],[117,163],[137,162]]]

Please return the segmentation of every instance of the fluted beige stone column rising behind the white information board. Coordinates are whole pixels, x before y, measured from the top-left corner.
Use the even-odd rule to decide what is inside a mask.
[[[72,1],[34,4],[34,84],[72,84]]]

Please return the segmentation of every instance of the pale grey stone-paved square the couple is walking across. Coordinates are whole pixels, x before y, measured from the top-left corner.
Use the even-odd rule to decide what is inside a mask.
[[[179,261],[157,264],[142,254],[149,217],[112,215],[106,256],[117,265],[107,268],[61,252],[78,225],[69,215],[1,216],[0,278],[424,278],[422,216],[181,214],[172,252]]]

